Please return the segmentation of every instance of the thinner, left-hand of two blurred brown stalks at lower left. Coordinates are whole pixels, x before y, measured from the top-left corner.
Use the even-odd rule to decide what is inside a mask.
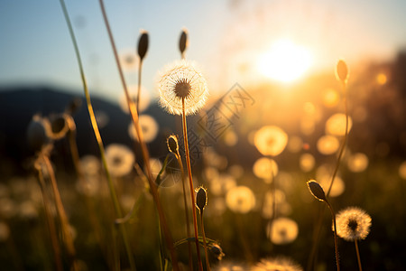
[[[51,201],[48,198],[47,192],[46,192],[46,185],[45,181],[43,179],[43,174],[41,168],[37,169],[38,173],[38,181],[40,182],[40,187],[41,187],[41,192],[42,192],[42,201],[43,201],[43,207],[45,210],[45,218],[47,220],[48,228],[50,229],[50,236],[51,236],[51,246],[52,246],[52,251],[53,251],[53,257],[55,260],[55,267],[57,271],[63,271],[62,267],[62,260],[60,258],[60,245],[58,243],[58,236],[57,236],[57,231],[55,228],[55,222],[51,216]]]

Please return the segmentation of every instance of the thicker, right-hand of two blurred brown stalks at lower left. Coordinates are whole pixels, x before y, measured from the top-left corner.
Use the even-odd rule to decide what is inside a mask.
[[[47,167],[48,173],[50,175],[50,180],[51,180],[51,187],[52,187],[52,192],[54,195],[54,200],[55,200],[55,206],[58,210],[58,216],[60,218],[60,228],[62,229],[62,235],[63,235],[63,240],[65,243],[65,246],[67,248],[68,252],[68,257],[69,257],[69,262],[72,266],[73,270],[78,270],[77,266],[77,261],[75,257],[75,247],[73,246],[73,238],[72,235],[69,231],[69,221],[68,217],[66,215],[65,208],[63,207],[62,200],[60,198],[60,191],[58,189],[58,184],[55,179],[55,173],[53,171],[50,159],[48,158],[47,155],[42,154],[42,160]]]

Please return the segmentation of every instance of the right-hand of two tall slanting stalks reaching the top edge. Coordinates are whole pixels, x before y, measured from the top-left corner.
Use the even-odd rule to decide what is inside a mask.
[[[106,24],[106,30],[107,30],[107,33],[108,33],[108,37],[109,37],[109,40],[110,40],[110,43],[111,43],[111,46],[112,46],[112,49],[113,49],[113,52],[114,52],[114,55],[115,55],[115,63],[117,65],[118,73],[119,73],[119,76],[120,76],[120,79],[121,79],[121,82],[122,82],[122,85],[123,85],[123,89],[125,90],[125,98],[127,100],[130,115],[132,117],[133,124],[134,124],[134,127],[135,127],[135,131],[137,133],[137,136],[139,138],[139,142],[140,142],[140,145],[141,145],[141,151],[142,151],[142,154],[143,154],[143,163],[145,164],[145,167],[146,167],[148,182],[150,184],[150,189],[151,189],[151,193],[152,193],[152,198],[153,198],[153,201],[155,202],[156,209],[158,210],[158,215],[160,217],[161,227],[162,227],[162,230],[163,230],[163,233],[164,233],[166,246],[169,248],[169,250],[171,252],[171,260],[172,260],[173,269],[175,271],[178,271],[178,270],[180,270],[180,267],[179,267],[179,264],[178,264],[178,257],[176,255],[175,249],[173,247],[173,240],[172,240],[172,237],[171,237],[171,231],[170,231],[170,229],[168,227],[168,223],[166,222],[166,219],[165,219],[165,214],[164,214],[162,206],[161,206],[161,201],[159,199],[158,190],[157,190],[156,184],[155,184],[155,182],[153,180],[153,177],[152,177],[151,165],[150,165],[150,156],[149,156],[148,149],[147,149],[147,146],[145,144],[145,141],[143,140],[143,131],[141,129],[141,125],[140,125],[140,122],[139,122],[137,108],[134,106],[134,101],[130,98],[130,95],[129,95],[129,92],[128,92],[128,89],[127,89],[127,85],[125,83],[124,73],[123,73],[123,70],[122,70],[121,65],[120,65],[117,50],[115,48],[115,42],[114,42],[114,38],[113,38],[113,33],[111,32],[110,25],[109,25],[108,20],[107,20],[107,14],[106,14],[105,5],[103,4],[103,0],[99,0],[99,4],[100,4],[100,8],[101,8],[101,11],[102,11],[102,14],[103,14],[104,22]]]

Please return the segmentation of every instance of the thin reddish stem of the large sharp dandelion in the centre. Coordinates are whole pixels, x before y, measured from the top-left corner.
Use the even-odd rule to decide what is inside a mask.
[[[194,196],[193,189],[193,179],[190,166],[190,157],[189,157],[189,141],[188,141],[188,127],[186,124],[186,114],[185,114],[185,98],[182,98],[182,126],[183,126],[183,141],[185,145],[185,156],[186,156],[186,165],[188,167],[189,173],[189,187],[190,187],[190,198],[192,203],[192,213],[193,213],[193,228],[195,230],[195,242],[196,242],[196,252],[198,254],[198,270],[203,271],[203,265],[201,263],[200,257],[200,248],[198,248],[198,218],[196,215],[196,201]]]

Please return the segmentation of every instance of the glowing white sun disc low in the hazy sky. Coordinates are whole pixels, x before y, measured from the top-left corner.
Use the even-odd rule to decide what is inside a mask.
[[[311,64],[309,50],[290,40],[279,40],[259,57],[257,68],[267,78],[291,82],[303,76]]]

